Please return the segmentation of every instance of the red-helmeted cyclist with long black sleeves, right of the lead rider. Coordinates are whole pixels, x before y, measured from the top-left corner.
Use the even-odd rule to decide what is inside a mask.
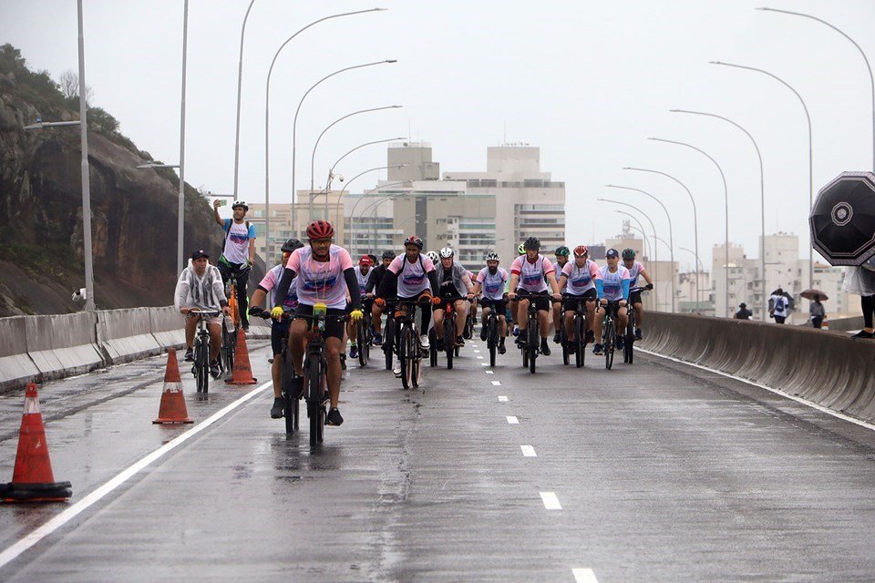
[[[438,299],[438,273],[435,264],[422,254],[422,239],[411,235],[404,241],[404,256],[396,257],[386,268],[386,277],[380,282],[374,305],[382,309],[386,298],[400,301],[417,301],[420,304],[440,302]],[[422,307],[422,306],[421,306]],[[426,309],[419,313],[419,343],[428,348],[428,322],[431,316]],[[401,373],[401,364],[393,371]]]

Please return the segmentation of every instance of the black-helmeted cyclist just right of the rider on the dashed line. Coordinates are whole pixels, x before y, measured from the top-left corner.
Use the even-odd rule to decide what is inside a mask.
[[[547,334],[550,326],[550,296],[547,284],[550,283],[553,299],[561,298],[556,273],[549,259],[539,254],[540,239],[530,237],[524,243],[525,256],[513,260],[510,265],[510,293],[508,298],[514,300],[520,291],[530,292],[539,296],[535,299],[538,307],[538,324],[540,326],[540,353],[550,356],[550,346],[547,344]],[[518,287],[519,285],[519,287]],[[520,326],[517,344],[525,345],[526,328],[529,325],[529,300],[520,300],[515,315]]]

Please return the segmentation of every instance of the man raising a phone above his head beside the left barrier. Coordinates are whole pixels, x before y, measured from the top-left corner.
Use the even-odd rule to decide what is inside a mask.
[[[237,312],[243,332],[249,332],[249,317],[246,315],[246,283],[249,281],[249,271],[255,262],[255,227],[246,220],[249,205],[245,200],[234,200],[231,208],[233,219],[222,219],[219,216],[221,200],[212,203],[213,215],[221,230],[225,231],[224,247],[216,264],[221,273],[221,283],[226,284],[233,275],[237,280]]]

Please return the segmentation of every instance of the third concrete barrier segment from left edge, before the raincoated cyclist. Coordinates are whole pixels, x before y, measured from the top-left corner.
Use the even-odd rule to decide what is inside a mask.
[[[109,363],[120,364],[154,354],[163,348],[152,335],[149,308],[98,310],[98,345]]]

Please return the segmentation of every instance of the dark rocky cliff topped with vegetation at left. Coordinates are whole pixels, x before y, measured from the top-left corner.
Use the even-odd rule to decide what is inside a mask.
[[[0,315],[74,312],[84,287],[79,130],[25,130],[36,118],[78,118],[45,72],[0,46]],[[177,278],[179,179],[118,132],[118,122],[88,109],[92,246],[98,308],[169,305]],[[185,189],[183,249],[218,256],[221,230],[208,201]]]

